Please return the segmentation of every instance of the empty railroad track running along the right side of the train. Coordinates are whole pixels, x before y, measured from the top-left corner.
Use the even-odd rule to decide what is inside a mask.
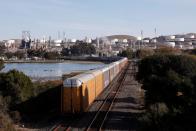
[[[99,110],[95,114],[94,118],[92,119],[91,123],[88,125],[88,127],[85,129],[86,131],[91,130],[102,130],[103,125],[107,119],[107,116],[112,108],[112,105],[116,99],[117,94],[119,93],[120,89],[123,87],[123,82],[126,78],[126,70],[128,69],[128,66],[124,69],[123,73],[120,77],[120,83],[116,82],[116,85],[112,92],[108,94],[102,105],[100,106]]]

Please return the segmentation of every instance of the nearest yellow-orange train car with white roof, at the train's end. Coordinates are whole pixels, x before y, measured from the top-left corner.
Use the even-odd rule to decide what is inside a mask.
[[[94,101],[95,78],[92,74],[81,74],[64,81],[63,112],[80,113],[86,111]]]

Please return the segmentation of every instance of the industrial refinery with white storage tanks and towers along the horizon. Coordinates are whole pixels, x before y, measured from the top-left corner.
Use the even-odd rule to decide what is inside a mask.
[[[59,34],[59,32],[58,32]],[[64,33],[63,33],[64,34]],[[112,35],[97,38],[85,37],[84,39],[69,39],[60,38],[52,39],[51,36],[43,38],[33,38],[30,31],[23,31],[21,39],[9,39],[0,42],[1,46],[6,48],[7,52],[16,52],[18,50],[45,50],[48,52],[61,52],[63,48],[70,48],[78,42],[92,44],[97,53],[105,54],[106,56],[116,56],[122,50],[151,48],[156,49],[162,46],[178,49],[194,49],[196,48],[196,34],[178,34],[158,36],[154,38],[143,36],[129,35]],[[65,36],[65,35],[64,35]]]

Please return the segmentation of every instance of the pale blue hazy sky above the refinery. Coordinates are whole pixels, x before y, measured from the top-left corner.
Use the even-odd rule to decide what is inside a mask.
[[[196,32],[196,0],[0,0],[0,40]]]

